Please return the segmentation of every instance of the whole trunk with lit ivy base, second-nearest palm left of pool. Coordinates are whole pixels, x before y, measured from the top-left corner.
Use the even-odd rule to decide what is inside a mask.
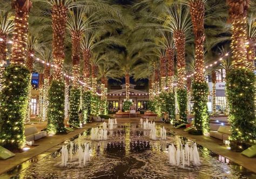
[[[68,8],[63,3],[52,1],[52,55],[53,62],[57,69],[53,73],[49,89],[49,107],[48,107],[48,133],[65,133],[64,128],[64,103],[65,103],[65,85],[62,80],[62,68],[65,58],[65,30]],[[57,89],[55,89],[57,88]]]

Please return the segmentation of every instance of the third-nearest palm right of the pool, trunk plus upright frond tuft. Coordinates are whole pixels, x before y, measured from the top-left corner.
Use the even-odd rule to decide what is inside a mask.
[[[186,101],[187,94],[185,90],[185,42],[186,35],[191,28],[190,12],[185,5],[174,4],[167,8],[167,17],[164,19],[164,26],[167,30],[173,32],[174,44],[177,51],[177,71],[178,71],[178,105],[179,117],[181,122],[187,122]],[[170,16],[170,17],[169,17]]]

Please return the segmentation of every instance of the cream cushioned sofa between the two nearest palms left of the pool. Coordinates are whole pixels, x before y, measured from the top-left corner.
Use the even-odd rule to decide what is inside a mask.
[[[26,137],[26,141],[38,140],[46,137],[47,135],[46,131],[38,131],[36,126],[26,127],[24,134]]]

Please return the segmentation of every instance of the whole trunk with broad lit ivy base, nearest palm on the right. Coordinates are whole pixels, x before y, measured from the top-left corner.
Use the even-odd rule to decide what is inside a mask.
[[[227,0],[232,23],[232,59],[234,68],[226,75],[227,97],[230,105],[231,148],[242,151],[246,142],[256,142],[254,106],[255,76],[247,60],[248,0]]]

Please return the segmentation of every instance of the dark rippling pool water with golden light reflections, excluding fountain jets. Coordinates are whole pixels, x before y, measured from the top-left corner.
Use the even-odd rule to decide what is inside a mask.
[[[238,168],[219,160],[208,149],[200,148],[201,166],[178,168],[169,164],[167,146],[179,145],[180,140],[192,145],[192,141],[173,135],[167,130],[167,140],[150,140],[149,131],[138,124],[118,125],[109,131],[108,140],[91,141],[89,131],[73,140],[75,145],[90,144],[91,161],[79,167],[77,160],[60,167],[60,153],[56,151],[35,162],[12,178],[252,178],[250,172],[239,173]],[[157,125],[157,128],[160,126]],[[159,135],[159,134],[158,134]],[[159,137],[159,136],[158,136]],[[69,141],[64,144],[68,145]],[[229,162],[229,161],[228,161]],[[250,177],[251,176],[251,177]],[[255,175],[254,175],[255,176]]]

